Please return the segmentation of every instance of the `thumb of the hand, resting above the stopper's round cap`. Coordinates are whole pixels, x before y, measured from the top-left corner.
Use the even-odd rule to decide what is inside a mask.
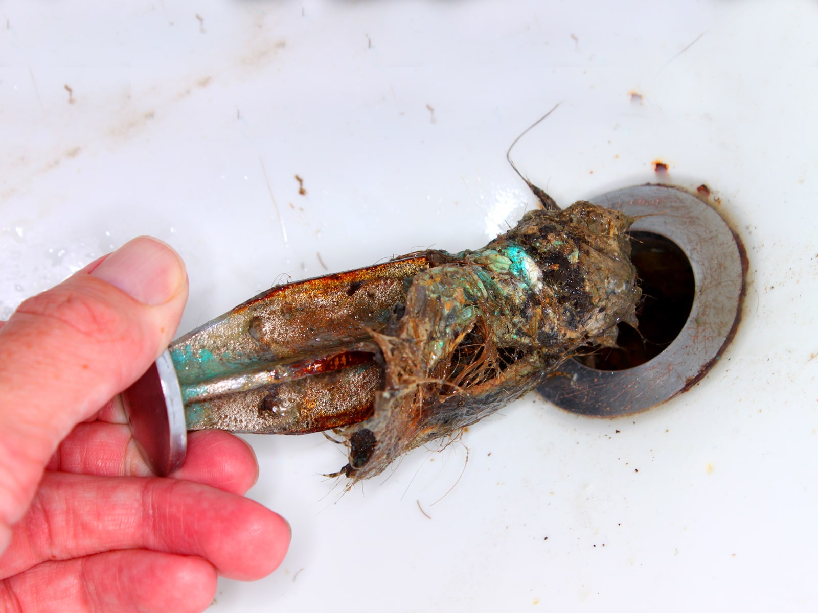
[[[0,329],[0,551],[76,423],[137,380],[173,338],[182,259],[140,237],[23,302]]]

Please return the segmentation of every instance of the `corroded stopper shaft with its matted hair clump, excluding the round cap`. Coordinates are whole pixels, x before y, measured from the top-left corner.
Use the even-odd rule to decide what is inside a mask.
[[[349,451],[339,474],[373,477],[635,323],[631,221],[588,203],[530,211],[483,248],[272,289],[170,347],[187,425],[333,427]]]

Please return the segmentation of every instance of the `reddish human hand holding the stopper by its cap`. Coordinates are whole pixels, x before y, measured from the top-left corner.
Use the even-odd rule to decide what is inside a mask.
[[[289,526],[241,495],[258,475],[249,445],[194,432],[184,467],[152,477],[114,397],[186,300],[182,260],[142,237],[0,328],[0,610],[201,611],[217,573],[281,563]]]

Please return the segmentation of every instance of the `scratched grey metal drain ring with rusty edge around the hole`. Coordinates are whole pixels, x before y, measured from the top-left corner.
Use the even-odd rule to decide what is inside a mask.
[[[717,211],[670,186],[635,186],[591,202],[640,217],[631,230],[653,232],[681,248],[693,268],[693,307],[673,342],[631,369],[596,370],[568,360],[537,388],[546,400],[583,415],[615,417],[649,409],[685,392],[714,365],[733,338],[744,299],[744,245]]]

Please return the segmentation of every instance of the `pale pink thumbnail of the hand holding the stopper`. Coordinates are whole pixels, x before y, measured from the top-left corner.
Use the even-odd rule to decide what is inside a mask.
[[[182,258],[169,244],[151,236],[140,236],[124,244],[91,275],[151,307],[176,296],[187,279]]]

